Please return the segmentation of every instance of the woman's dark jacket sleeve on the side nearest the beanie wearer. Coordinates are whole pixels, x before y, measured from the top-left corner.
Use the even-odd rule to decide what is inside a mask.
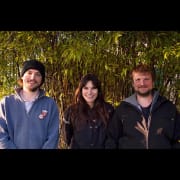
[[[70,146],[73,136],[73,125],[71,121],[71,107],[68,107],[64,112],[64,118],[62,122],[62,136],[64,142]]]

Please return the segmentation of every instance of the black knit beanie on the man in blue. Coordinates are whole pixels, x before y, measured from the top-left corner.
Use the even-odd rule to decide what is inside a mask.
[[[45,66],[37,60],[27,60],[23,63],[23,67],[21,70],[21,77],[24,75],[24,73],[28,70],[28,69],[36,69],[38,70],[41,75],[42,75],[42,83],[44,83],[45,80]]]

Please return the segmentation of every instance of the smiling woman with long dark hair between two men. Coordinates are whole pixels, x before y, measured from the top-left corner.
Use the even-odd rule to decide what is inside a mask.
[[[103,149],[114,108],[105,102],[101,82],[87,74],[79,82],[74,102],[65,113],[63,138],[71,149]]]

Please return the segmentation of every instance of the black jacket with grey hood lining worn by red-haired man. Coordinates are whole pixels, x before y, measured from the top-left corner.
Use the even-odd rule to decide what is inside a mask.
[[[135,126],[142,112],[135,94],[121,102],[108,126],[106,148],[171,149],[180,148],[180,114],[175,105],[154,92],[150,109],[148,138]]]

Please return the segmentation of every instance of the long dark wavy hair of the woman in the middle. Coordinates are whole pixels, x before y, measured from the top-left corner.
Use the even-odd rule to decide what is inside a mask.
[[[98,96],[94,102],[94,106],[92,109],[89,107],[82,96],[82,88],[86,86],[88,81],[92,81],[94,87],[98,89]],[[90,109],[91,115],[89,114]],[[78,88],[75,91],[72,109],[72,122],[74,121],[74,123],[76,123],[76,126],[79,126],[80,124],[82,125],[83,123],[86,123],[86,121],[90,118],[89,116],[94,119],[102,120],[105,126],[107,126],[109,113],[106,107],[106,102],[104,100],[104,95],[101,90],[101,82],[96,75],[91,73],[81,78]]]

